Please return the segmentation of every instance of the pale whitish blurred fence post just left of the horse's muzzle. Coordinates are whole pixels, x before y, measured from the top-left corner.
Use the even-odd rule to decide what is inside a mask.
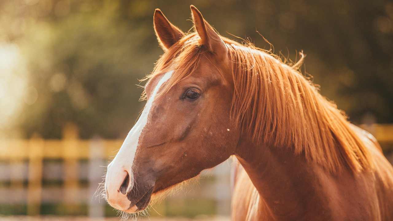
[[[105,216],[105,201],[100,203],[101,182],[103,181],[102,175],[105,172],[107,164],[104,160],[104,145],[103,140],[98,136],[95,136],[89,146],[89,195],[92,199],[89,201],[89,217],[90,218],[103,218]],[[96,192],[97,191],[97,192]]]

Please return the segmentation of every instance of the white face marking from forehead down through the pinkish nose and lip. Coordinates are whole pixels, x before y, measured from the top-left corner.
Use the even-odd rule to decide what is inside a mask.
[[[132,164],[134,162],[140,135],[147,124],[148,116],[158,90],[162,84],[165,83],[165,81],[171,78],[172,73],[173,70],[165,73],[160,81],[158,81],[156,87],[153,90],[153,93],[151,94],[151,97],[146,102],[145,108],[143,109],[140,118],[128,133],[123,142],[123,145],[121,145],[119,152],[116,154],[116,157],[108,165],[107,176],[105,177],[105,189],[107,190],[108,203],[118,210],[134,212],[129,211],[130,201],[127,199],[127,194],[123,194],[118,190],[127,173],[129,174],[127,192],[130,191],[134,186],[135,177],[132,171]],[[133,208],[137,210],[136,206]]]

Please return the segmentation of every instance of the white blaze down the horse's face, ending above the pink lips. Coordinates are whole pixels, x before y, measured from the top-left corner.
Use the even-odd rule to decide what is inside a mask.
[[[149,116],[149,112],[151,110],[152,104],[154,102],[154,98],[158,90],[160,89],[162,84],[172,76],[172,73],[173,70],[165,73],[164,76],[160,79],[160,81],[158,81],[150,98],[146,102],[145,108],[143,109],[140,118],[128,133],[116,157],[108,165],[107,176],[105,178],[105,188],[107,188],[108,192],[110,192],[110,190],[117,191],[120,188],[120,185],[123,182],[123,179],[125,178],[125,171],[127,171],[130,176],[127,191],[132,189],[134,185],[134,174],[132,173],[131,167],[132,167],[132,163],[134,162],[134,157],[136,153],[136,147],[138,147],[139,137],[141,135],[143,128],[145,128],[147,124],[147,117]],[[114,179],[121,179],[121,180],[114,180]],[[113,185],[118,185],[118,186],[113,186]],[[110,194],[109,197],[111,197]]]

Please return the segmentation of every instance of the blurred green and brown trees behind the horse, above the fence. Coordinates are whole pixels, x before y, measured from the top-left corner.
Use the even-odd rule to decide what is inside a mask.
[[[162,54],[154,9],[188,31],[190,4],[221,35],[269,48],[257,30],[293,60],[304,50],[303,69],[352,122],[393,123],[391,1],[4,0],[0,44],[17,46],[27,83],[17,120],[0,129],[61,138],[73,122],[82,138],[125,136],[144,105],[138,79]]]

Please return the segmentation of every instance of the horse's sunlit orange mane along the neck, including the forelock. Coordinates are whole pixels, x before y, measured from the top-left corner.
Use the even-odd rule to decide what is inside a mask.
[[[292,148],[332,173],[371,166],[370,153],[345,114],[298,71],[303,57],[290,65],[253,44],[220,37],[232,61],[231,120],[244,134],[256,143]],[[208,58],[206,53],[198,34],[188,33],[160,57],[143,80],[174,70],[160,92],[165,94],[195,71],[202,56]]]

